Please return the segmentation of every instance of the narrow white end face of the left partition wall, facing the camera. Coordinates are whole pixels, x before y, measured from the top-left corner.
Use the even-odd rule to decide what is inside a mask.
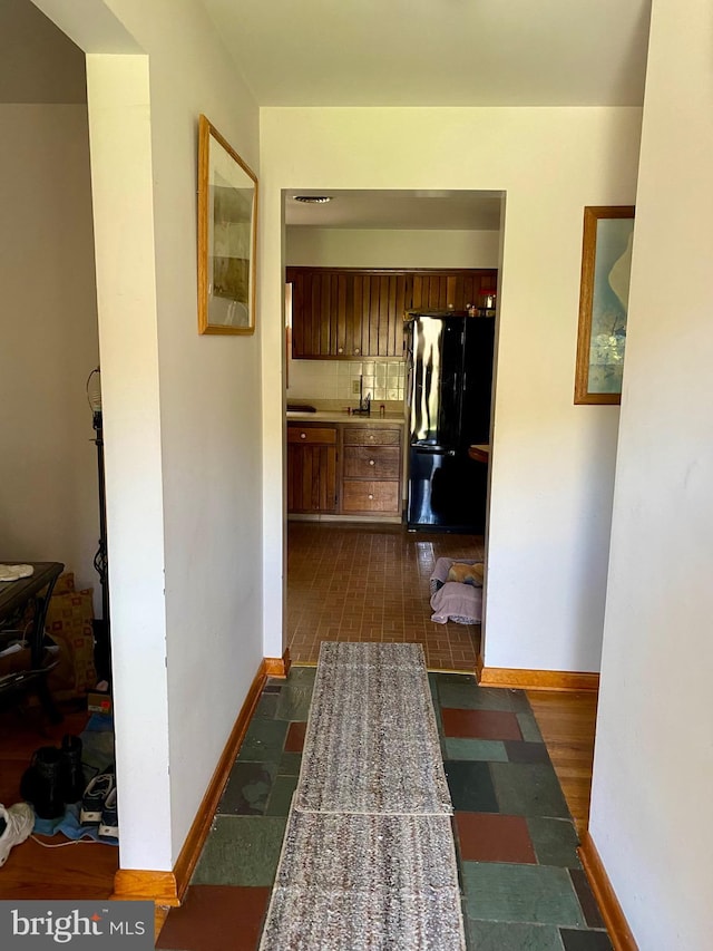
[[[167,870],[172,815],[147,59],[90,55],[87,87],[120,865]]]

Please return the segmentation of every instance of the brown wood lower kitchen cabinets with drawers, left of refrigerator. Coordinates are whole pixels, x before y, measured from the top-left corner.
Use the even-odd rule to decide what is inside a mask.
[[[287,425],[287,511],[401,515],[400,426]]]

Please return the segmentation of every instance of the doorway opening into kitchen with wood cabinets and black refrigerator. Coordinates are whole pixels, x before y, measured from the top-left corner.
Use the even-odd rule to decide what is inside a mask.
[[[411,452],[416,384],[404,317],[442,312],[442,326],[459,347],[466,320],[496,329],[504,196],[285,191],[283,202],[291,659],[316,662],[324,640],[414,641],[423,644],[429,668],[473,673],[481,653],[482,589],[477,613],[461,618],[470,623],[452,615],[436,623],[430,600],[440,586],[432,578],[439,559],[486,561],[496,334],[481,386],[482,431],[461,440],[466,453],[477,444],[479,455],[468,457],[462,477],[441,491],[439,502],[438,481],[456,455],[446,447],[439,456],[445,465],[428,476],[429,505],[434,493],[429,513],[439,514],[414,525],[409,502],[411,512],[422,515],[426,507],[414,502],[423,478],[417,483]],[[458,320],[458,333],[450,332]],[[432,371],[424,368],[423,377]],[[452,433],[466,407],[461,382],[459,377],[450,391],[434,387],[430,397],[418,397],[426,414]],[[439,438],[436,428],[426,436],[437,448]],[[433,455],[430,446],[426,452]],[[469,517],[458,517],[469,510]]]

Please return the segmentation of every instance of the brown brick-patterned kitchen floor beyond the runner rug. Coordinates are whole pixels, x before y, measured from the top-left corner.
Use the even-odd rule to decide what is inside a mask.
[[[482,536],[290,522],[292,660],[316,662],[322,641],[408,641],[423,646],[430,670],[473,671],[480,625],[431,621],[429,578],[439,557],[482,559]]]

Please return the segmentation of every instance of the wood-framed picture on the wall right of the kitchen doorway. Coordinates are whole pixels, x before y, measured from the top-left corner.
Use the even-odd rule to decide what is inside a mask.
[[[584,210],[575,404],[619,404],[634,206]]]

